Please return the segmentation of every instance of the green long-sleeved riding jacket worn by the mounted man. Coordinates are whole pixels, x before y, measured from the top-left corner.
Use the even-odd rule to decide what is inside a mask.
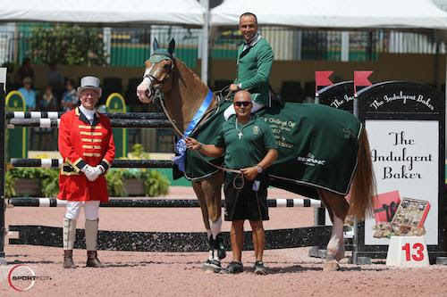
[[[273,62],[272,47],[262,37],[255,45],[244,50],[242,44],[238,49],[238,76],[234,83],[241,84],[241,89],[248,89],[251,100],[266,106],[270,106],[268,82]]]

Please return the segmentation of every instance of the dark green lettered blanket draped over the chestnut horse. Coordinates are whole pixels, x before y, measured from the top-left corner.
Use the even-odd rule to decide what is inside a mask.
[[[228,104],[191,136],[205,144],[213,143]],[[362,128],[350,112],[314,103],[285,103],[257,114],[270,124],[279,148],[278,160],[268,169],[273,186],[315,198],[316,188],[337,194],[349,192]],[[223,163],[223,158],[205,158],[216,165]],[[217,172],[190,150],[185,165],[185,177],[191,180]]]

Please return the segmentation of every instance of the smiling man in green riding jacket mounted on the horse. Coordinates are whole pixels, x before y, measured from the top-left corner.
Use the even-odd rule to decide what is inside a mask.
[[[238,73],[230,90],[249,90],[255,112],[264,106],[270,106],[269,79],[274,52],[272,47],[257,30],[257,16],[252,12],[244,12],[240,15],[239,29],[244,42],[238,49],[238,60],[236,62]],[[231,105],[223,115],[227,120],[234,114]]]

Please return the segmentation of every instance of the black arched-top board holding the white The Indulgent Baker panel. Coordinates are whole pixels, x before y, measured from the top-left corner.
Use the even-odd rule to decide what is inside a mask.
[[[362,89],[358,104],[369,136],[377,194],[398,191],[401,197],[429,202],[426,243],[429,251],[441,252],[444,95],[426,85],[393,81]],[[375,231],[376,220],[367,219],[359,243],[364,255],[386,253],[389,239],[374,236]]]

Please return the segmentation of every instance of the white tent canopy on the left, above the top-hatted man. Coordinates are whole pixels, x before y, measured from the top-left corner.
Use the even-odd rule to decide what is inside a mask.
[[[0,7],[0,21],[55,21],[117,25],[129,23],[203,26],[197,0],[13,0]]]

